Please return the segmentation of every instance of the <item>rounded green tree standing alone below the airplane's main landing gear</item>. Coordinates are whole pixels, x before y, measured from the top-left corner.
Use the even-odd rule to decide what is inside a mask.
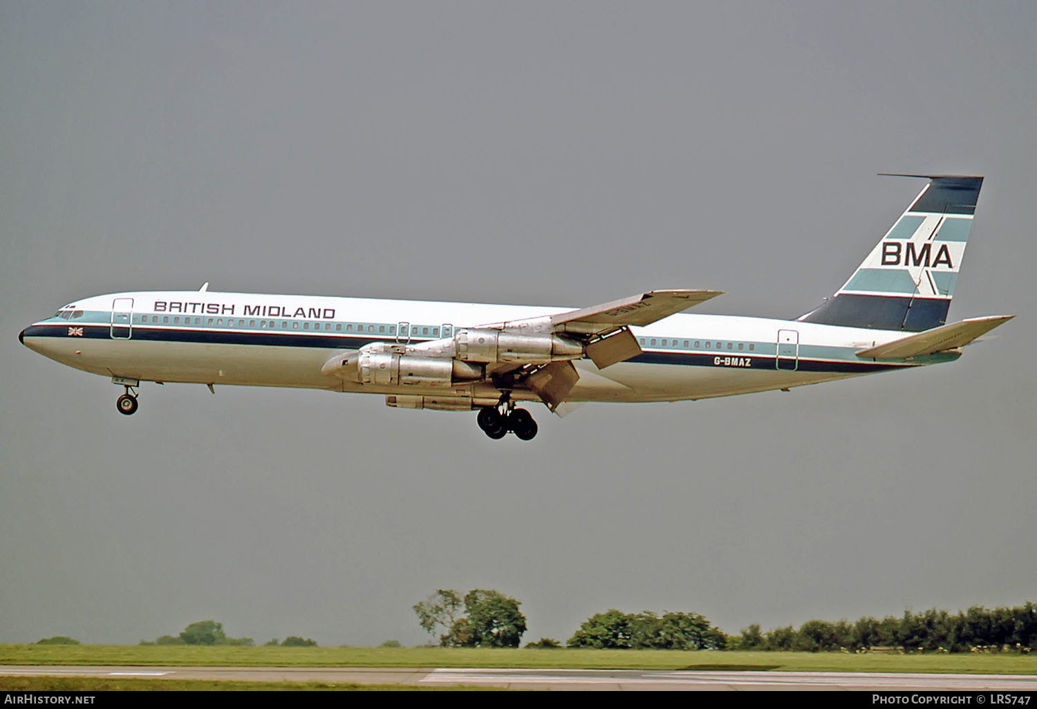
[[[440,589],[414,605],[421,627],[435,634],[442,626],[440,645],[452,648],[516,648],[526,632],[526,617],[520,601],[499,591],[473,589],[463,601],[456,591]]]

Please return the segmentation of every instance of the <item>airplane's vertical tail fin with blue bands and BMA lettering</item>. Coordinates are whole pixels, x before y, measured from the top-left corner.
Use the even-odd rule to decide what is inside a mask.
[[[804,322],[922,332],[947,322],[982,177],[929,183],[849,280]]]

